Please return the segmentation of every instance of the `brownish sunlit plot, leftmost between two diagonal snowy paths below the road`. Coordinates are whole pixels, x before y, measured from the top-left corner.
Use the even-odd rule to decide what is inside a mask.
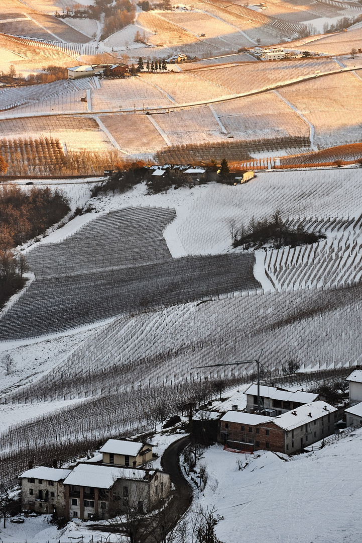
[[[146,115],[105,115],[100,119],[124,153],[156,153],[167,145]]]

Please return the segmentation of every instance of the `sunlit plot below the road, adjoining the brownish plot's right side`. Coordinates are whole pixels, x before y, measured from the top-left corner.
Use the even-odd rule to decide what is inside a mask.
[[[155,115],[172,144],[220,141],[225,135],[208,106]]]

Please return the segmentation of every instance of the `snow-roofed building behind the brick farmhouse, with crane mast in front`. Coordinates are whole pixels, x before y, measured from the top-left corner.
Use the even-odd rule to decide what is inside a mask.
[[[257,410],[257,384],[250,385],[244,394],[247,396],[247,411],[254,413]],[[304,403],[314,402],[318,394],[304,392],[303,390],[287,390],[279,387],[260,387],[260,396],[269,416],[278,416]]]

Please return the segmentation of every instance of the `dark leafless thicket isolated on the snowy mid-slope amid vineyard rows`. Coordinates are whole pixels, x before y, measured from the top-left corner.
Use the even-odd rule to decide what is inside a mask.
[[[280,211],[275,211],[272,220],[251,219],[248,226],[242,224],[237,228],[235,222],[230,222],[232,246],[244,249],[257,248],[263,245],[279,249],[285,245],[295,247],[304,243],[316,243],[326,236],[322,233],[306,232],[302,228],[290,229],[281,219]]]

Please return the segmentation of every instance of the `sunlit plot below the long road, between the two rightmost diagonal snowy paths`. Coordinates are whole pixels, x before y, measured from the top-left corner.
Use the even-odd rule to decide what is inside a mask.
[[[229,134],[242,140],[281,136],[308,136],[303,119],[273,92],[213,106]]]

